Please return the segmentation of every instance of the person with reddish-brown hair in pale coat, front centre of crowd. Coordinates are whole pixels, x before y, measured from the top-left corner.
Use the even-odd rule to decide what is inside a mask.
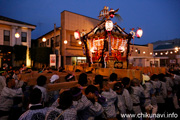
[[[100,85],[101,95],[106,98],[107,104],[103,104],[103,109],[105,112],[105,117],[107,119],[114,119],[116,118],[116,110],[115,110],[115,101],[117,100],[117,94],[113,91],[107,80],[103,80]]]

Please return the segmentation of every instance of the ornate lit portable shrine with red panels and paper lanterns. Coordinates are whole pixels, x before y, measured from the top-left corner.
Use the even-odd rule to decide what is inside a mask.
[[[87,58],[89,66],[99,65],[102,68],[128,68],[128,56],[131,39],[135,34],[138,38],[142,36],[142,29],[135,33],[132,29],[130,33],[125,32],[117,23],[111,20],[119,9],[113,10],[104,7],[100,11],[101,22],[90,32],[80,36],[79,31],[74,32],[75,39],[81,40],[82,49]]]

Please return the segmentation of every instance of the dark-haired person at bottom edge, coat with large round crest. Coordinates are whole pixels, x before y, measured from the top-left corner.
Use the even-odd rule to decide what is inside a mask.
[[[72,106],[72,100],[72,93],[69,90],[62,92],[58,99],[58,107],[49,108],[46,120],[76,120],[77,111]]]

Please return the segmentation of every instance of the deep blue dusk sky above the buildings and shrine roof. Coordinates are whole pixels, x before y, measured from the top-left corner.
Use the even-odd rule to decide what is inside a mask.
[[[32,39],[60,27],[64,10],[98,19],[104,6],[118,9],[118,25],[130,32],[141,27],[135,44],[180,38],[180,0],[0,0],[0,15],[36,25]],[[114,18],[113,18],[114,19]]]

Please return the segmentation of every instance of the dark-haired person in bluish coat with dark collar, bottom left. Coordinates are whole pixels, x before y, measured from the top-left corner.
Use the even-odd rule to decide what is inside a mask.
[[[19,120],[45,120],[48,108],[44,108],[41,104],[42,92],[35,88],[30,93],[29,110],[23,113]]]

